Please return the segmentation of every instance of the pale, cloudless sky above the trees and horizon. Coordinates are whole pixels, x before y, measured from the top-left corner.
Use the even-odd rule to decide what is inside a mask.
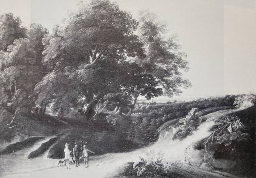
[[[51,30],[79,1],[0,0],[0,14],[11,12],[24,26],[40,23]],[[190,67],[183,76],[192,87],[172,100],[256,93],[256,0],[115,1],[134,18],[150,9],[168,24],[170,34],[178,35]]]

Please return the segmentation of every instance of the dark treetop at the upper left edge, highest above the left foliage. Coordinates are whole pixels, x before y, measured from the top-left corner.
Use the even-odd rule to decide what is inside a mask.
[[[0,16],[0,51],[6,51],[15,39],[26,38],[26,28],[21,26],[19,17],[12,13],[5,13]]]

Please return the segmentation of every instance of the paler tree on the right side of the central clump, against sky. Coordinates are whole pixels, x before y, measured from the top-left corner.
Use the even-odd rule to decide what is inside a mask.
[[[182,69],[188,69],[188,62],[185,60],[186,54],[181,52],[181,46],[175,42],[173,36],[165,37],[166,32],[166,26],[158,22],[155,14],[142,11],[137,34],[144,44],[146,57],[143,59],[129,57],[128,61],[135,62],[140,66],[141,74],[152,76],[154,81],[157,81],[158,87],[163,90],[163,95],[172,97],[173,94],[181,93],[180,87],[187,88],[191,84],[187,79],[182,78],[181,73]],[[134,90],[134,104],[139,95],[140,92]],[[134,104],[132,104],[131,110]]]

